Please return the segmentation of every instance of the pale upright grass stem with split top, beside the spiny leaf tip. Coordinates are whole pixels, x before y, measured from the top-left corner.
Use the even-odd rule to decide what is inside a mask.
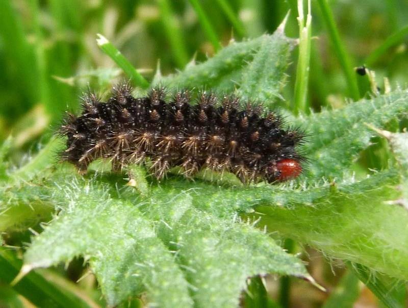
[[[308,1],[308,14],[304,20],[303,2],[298,0],[297,18],[299,23],[299,58],[297,61],[294,108],[295,114],[307,111],[307,93],[309,81],[310,49],[312,34],[312,12],[310,0]]]

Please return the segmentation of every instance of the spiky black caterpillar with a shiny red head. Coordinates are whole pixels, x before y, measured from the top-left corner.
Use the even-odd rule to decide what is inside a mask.
[[[129,84],[112,90],[101,102],[88,92],[82,114],[70,114],[60,129],[67,136],[62,158],[85,172],[97,158],[112,159],[112,169],[150,159],[159,180],[171,167],[193,177],[200,169],[233,172],[243,183],[284,181],[301,173],[297,146],[304,134],[282,128],[281,118],[239,98],[202,91],[190,104],[190,91],[177,92],[168,102],[161,87],[134,98]]]

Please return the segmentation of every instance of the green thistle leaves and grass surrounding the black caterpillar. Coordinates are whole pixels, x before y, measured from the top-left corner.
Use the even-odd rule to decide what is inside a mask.
[[[0,0],[0,306],[285,307],[301,286],[321,294],[310,305],[351,307],[359,281],[382,305],[405,306],[408,6],[318,0],[312,27],[298,8]],[[355,74],[362,64],[368,76]],[[304,174],[157,183],[137,166],[115,175],[96,162],[82,177],[57,163],[64,111],[78,111],[87,84],[106,95],[123,77],[135,94],[208,88],[280,108],[310,134]],[[317,268],[339,265],[342,279],[315,277],[284,239],[289,252],[320,251]]]

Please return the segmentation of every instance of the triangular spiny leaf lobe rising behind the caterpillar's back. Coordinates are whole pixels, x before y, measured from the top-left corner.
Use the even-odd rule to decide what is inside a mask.
[[[285,70],[295,40],[283,33],[283,26],[273,35],[263,35],[242,42],[231,42],[206,62],[191,63],[183,72],[156,78],[170,88],[203,88],[239,93],[246,99],[270,103],[281,97]]]

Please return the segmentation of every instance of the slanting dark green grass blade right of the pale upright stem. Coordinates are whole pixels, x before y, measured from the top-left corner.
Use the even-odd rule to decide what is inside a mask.
[[[327,3],[327,0],[317,0],[320,10],[322,11],[322,18],[326,24],[329,38],[331,44],[333,44],[334,51],[339,59],[340,65],[343,69],[343,73],[346,77],[347,86],[350,91],[351,98],[354,101],[360,99],[359,87],[357,84],[356,74],[351,65],[351,60],[346,52],[346,49],[340,39],[339,31],[336,27],[335,19],[333,17],[333,12]]]

